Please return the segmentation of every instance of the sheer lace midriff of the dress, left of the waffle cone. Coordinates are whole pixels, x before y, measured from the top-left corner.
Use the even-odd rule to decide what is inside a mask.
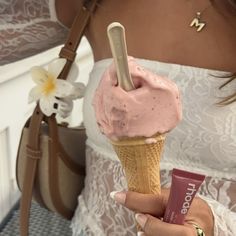
[[[110,190],[127,189],[120,163],[91,148],[86,154],[88,174],[72,221],[73,235],[136,235],[134,214],[110,198]]]

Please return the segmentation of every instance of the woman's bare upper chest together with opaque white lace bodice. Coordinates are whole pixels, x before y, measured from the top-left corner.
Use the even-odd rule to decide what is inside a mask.
[[[102,0],[87,30],[98,63],[91,73],[85,97],[85,123],[94,117],[88,108],[89,102],[110,63],[101,61],[111,57],[106,28],[109,23],[119,21],[126,28],[128,53],[149,59],[141,60],[141,65],[157,74],[167,75],[182,93],[184,118],[168,135],[163,163],[167,160],[168,165],[171,157],[175,166],[191,163],[192,167],[195,165],[193,169],[204,166],[206,171],[212,167],[217,171],[224,169],[223,175],[230,168],[232,174],[236,167],[235,104],[218,107],[216,103],[236,88],[235,84],[230,84],[219,91],[226,80],[214,76],[225,76],[222,71],[236,71],[236,10],[235,15],[229,11],[228,1],[213,2],[216,5],[207,0],[141,0],[138,4],[136,1]],[[201,10],[206,26],[197,32],[189,24]],[[91,127],[96,126],[93,122],[92,126],[89,124],[88,134]],[[106,148],[110,150],[103,137],[97,137],[96,132],[91,135],[95,137],[94,140],[91,138],[95,143],[99,137],[97,141],[103,152]]]

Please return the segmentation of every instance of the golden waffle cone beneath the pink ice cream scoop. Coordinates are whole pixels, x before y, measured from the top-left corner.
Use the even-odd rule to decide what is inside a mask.
[[[145,137],[112,141],[130,191],[153,194],[161,192],[160,157],[165,136],[158,134],[151,138],[155,139],[151,144],[146,142]]]

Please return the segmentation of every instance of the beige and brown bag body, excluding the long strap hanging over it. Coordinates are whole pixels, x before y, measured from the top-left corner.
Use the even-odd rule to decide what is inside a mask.
[[[52,122],[52,121],[50,121]],[[32,150],[28,147],[29,123],[22,131],[16,178],[23,190],[27,157]],[[33,199],[41,206],[70,219],[77,205],[77,197],[84,186],[85,177],[85,130],[84,127],[68,128],[42,122],[38,142],[40,151],[33,186]],[[30,201],[28,199],[27,201]]]

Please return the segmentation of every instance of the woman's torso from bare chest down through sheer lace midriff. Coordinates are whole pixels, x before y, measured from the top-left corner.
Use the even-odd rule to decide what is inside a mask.
[[[109,140],[99,131],[92,106],[102,74],[112,62],[106,59],[111,57],[106,28],[112,21],[125,26],[129,54],[149,59],[138,59],[138,63],[168,76],[182,94],[183,121],[167,135],[161,160],[162,185],[170,184],[173,167],[204,173],[208,177],[201,194],[235,209],[236,107],[232,104],[219,108],[216,102],[233,93],[236,87],[229,85],[220,91],[218,88],[225,79],[214,75],[222,77],[225,75],[222,71],[236,71],[236,34],[227,20],[221,21],[218,15],[209,18],[207,28],[200,33],[189,28],[195,14],[195,10],[190,11],[191,4],[199,2],[203,8],[208,4],[206,0],[141,0],[138,4],[134,0],[103,0],[92,17],[86,35],[96,63],[84,99],[84,123],[90,148],[87,149],[85,190],[78,210],[79,223],[74,224],[76,232],[106,230],[103,234],[108,235],[109,230],[114,232],[122,222],[119,230],[125,229],[126,233],[130,230],[130,235],[135,235],[132,213],[124,212],[124,208],[120,211],[108,197],[110,191],[124,189],[126,185],[117,156]],[[191,3],[190,9],[188,3]],[[206,12],[206,17],[210,11],[212,9]],[[116,217],[116,222],[114,214],[120,217]],[[91,225],[101,226],[101,231]]]

